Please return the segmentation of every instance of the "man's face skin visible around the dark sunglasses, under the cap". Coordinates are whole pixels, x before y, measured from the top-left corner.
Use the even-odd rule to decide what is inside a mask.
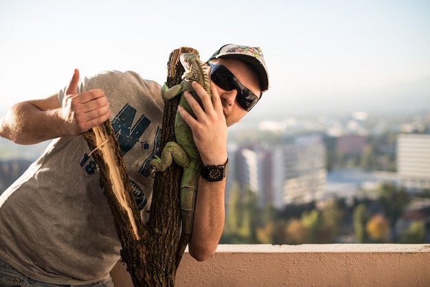
[[[245,64],[245,62],[234,58],[219,58],[211,60],[211,62],[225,66],[229,71],[231,71],[231,73],[233,73],[242,85],[260,97],[260,80],[256,71],[251,69],[251,67]],[[238,93],[236,89],[225,91],[216,85],[216,91],[218,91],[221,103],[223,104],[227,126],[240,122],[240,119],[242,119],[242,117],[248,112],[245,111],[236,101],[236,95]]]

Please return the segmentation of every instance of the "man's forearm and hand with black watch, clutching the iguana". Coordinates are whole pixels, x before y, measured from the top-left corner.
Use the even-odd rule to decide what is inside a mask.
[[[201,97],[204,109],[189,92],[185,92],[185,99],[196,114],[196,119],[181,106],[179,113],[192,130],[202,165],[223,165],[227,161],[227,123],[220,96],[214,86],[211,86],[212,101],[198,83],[193,82],[192,87]],[[188,245],[190,255],[196,260],[206,260],[214,255],[223,233],[226,181],[225,178],[223,181],[209,182],[200,176],[194,225]]]

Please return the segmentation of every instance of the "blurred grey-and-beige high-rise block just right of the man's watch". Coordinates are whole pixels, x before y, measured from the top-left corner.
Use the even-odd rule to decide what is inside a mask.
[[[234,172],[227,184],[258,193],[258,205],[281,209],[291,203],[323,198],[326,185],[326,152],[320,135],[288,137],[278,146],[250,145],[234,152]],[[234,176],[232,176],[234,174]]]

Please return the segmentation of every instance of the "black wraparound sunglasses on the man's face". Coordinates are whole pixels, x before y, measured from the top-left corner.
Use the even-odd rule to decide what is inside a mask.
[[[208,63],[211,67],[210,78],[214,83],[225,91],[236,90],[236,101],[245,111],[251,111],[260,98],[249,91],[243,84],[240,84],[238,79],[223,65],[215,65],[211,62]],[[261,97],[262,93],[260,94]]]

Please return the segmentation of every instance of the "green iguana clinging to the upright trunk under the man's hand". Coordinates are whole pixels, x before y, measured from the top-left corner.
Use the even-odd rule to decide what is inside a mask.
[[[210,78],[207,75],[207,68],[205,64],[201,62],[197,54],[181,54],[179,59],[181,60],[181,64],[185,69],[185,72],[182,76],[183,81],[170,89],[168,89],[166,84],[164,84],[162,89],[163,100],[167,101],[181,94],[181,100],[179,104],[195,118],[190,105],[185,100],[185,97],[183,97],[183,92],[190,91],[194,98],[202,106],[199,95],[197,95],[194,89],[192,89],[191,83],[193,81],[199,82],[203,89],[205,89],[205,91],[212,98],[210,93]],[[175,259],[176,267],[178,268],[183,252],[185,251],[185,247],[187,246],[191,237],[192,225],[194,222],[194,203],[200,177],[201,158],[194,143],[190,126],[188,126],[181,115],[179,115],[179,112],[176,113],[174,119],[174,135],[177,142],[169,141],[166,143],[166,146],[161,152],[161,158],[156,157],[156,159],[152,159],[152,161],[150,161],[150,165],[154,169],[154,172],[161,172],[166,170],[166,168],[172,164],[172,160],[174,160],[175,163],[183,168],[183,176],[179,190],[182,231]]]

